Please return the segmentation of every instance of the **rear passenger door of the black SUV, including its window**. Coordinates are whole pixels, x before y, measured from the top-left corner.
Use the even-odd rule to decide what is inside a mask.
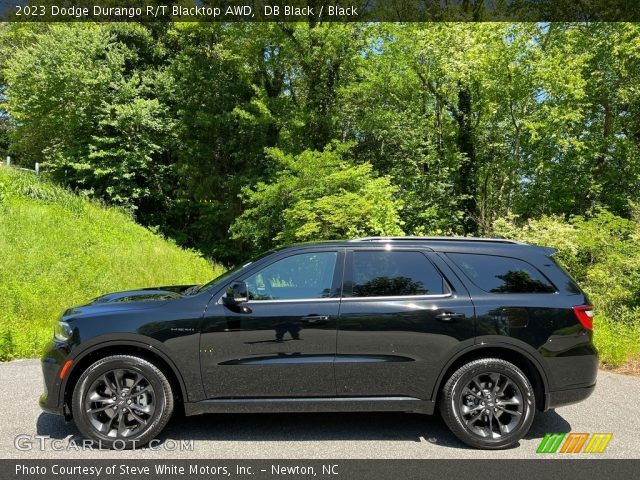
[[[338,395],[428,399],[474,308],[445,262],[420,249],[347,251],[335,363]]]

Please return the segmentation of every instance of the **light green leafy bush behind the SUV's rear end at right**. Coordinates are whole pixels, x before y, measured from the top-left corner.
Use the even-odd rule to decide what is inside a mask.
[[[637,212],[638,213],[638,212]],[[617,367],[640,360],[640,218],[624,219],[604,209],[589,216],[544,216],[525,223],[495,222],[509,238],[558,249],[555,258],[595,306],[594,338],[600,359]]]

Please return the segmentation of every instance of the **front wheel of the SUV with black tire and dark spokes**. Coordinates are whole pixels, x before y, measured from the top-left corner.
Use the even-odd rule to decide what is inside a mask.
[[[113,355],[98,360],[73,390],[78,430],[99,448],[146,445],[171,418],[174,397],[162,371],[148,360]]]

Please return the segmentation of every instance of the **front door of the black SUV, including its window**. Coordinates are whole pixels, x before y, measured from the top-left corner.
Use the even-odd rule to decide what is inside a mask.
[[[213,299],[201,336],[208,398],[334,396],[344,252],[289,252],[236,280],[249,301]]]

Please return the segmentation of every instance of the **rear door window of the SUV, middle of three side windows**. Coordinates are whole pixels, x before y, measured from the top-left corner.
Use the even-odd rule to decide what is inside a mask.
[[[443,279],[419,252],[354,252],[354,297],[442,293]]]

